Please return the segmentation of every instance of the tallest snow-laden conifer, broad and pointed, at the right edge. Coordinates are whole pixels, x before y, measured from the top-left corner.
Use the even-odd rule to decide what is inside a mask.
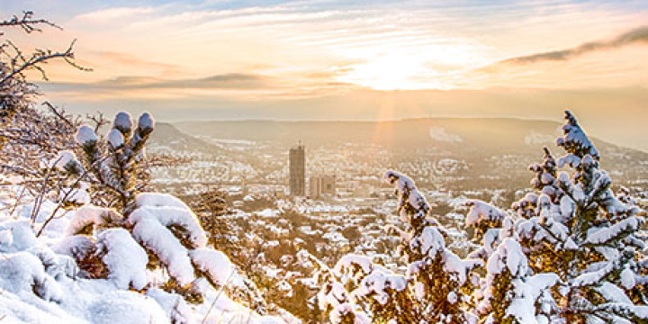
[[[556,160],[545,148],[544,163],[530,166],[536,192],[512,206],[514,226],[484,237],[491,253],[482,253],[488,272],[478,311],[494,322],[648,320],[636,236],[644,219],[626,191],[613,193],[572,113],[565,119],[557,144],[566,155]]]

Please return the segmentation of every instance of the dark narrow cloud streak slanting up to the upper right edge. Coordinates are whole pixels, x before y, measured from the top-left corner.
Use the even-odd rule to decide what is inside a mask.
[[[648,43],[648,26],[642,26],[632,31],[627,31],[613,40],[591,41],[572,49],[553,50],[517,58],[507,58],[496,64],[527,64],[542,61],[563,61],[581,56],[585,53],[602,49],[617,49],[635,43]]]

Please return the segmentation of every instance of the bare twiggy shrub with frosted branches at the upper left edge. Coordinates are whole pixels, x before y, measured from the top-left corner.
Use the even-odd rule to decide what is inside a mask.
[[[45,177],[47,170],[42,170],[42,165],[59,150],[74,147],[70,135],[76,130],[76,120],[62,110],[47,102],[43,104],[52,113],[38,109],[36,98],[40,90],[27,73],[40,73],[47,79],[44,65],[57,60],[78,67],[74,42],[65,51],[41,48],[30,52],[21,41],[10,40],[12,35],[19,35],[11,30],[30,35],[44,27],[60,29],[46,19],[35,18],[29,11],[0,20],[0,171],[22,176],[30,180],[24,181],[28,185]],[[30,186],[33,189],[35,185]]]

